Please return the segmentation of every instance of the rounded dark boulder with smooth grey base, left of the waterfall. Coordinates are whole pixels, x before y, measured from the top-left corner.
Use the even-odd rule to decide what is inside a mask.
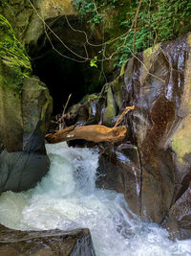
[[[20,151],[6,147],[0,151],[0,193],[31,189],[49,171],[44,135],[51,113],[52,99],[46,85],[36,78],[24,79],[22,147]],[[7,136],[11,140],[14,133],[8,130]]]

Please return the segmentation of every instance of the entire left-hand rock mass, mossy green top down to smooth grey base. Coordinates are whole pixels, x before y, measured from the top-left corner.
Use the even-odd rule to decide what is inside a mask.
[[[44,134],[53,103],[32,78],[29,58],[0,15],[0,193],[29,189],[49,170]]]

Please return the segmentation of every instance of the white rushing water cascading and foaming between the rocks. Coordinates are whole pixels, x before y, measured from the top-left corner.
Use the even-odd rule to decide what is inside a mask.
[[[47,151],[50,172],[34,189],[0,197],[1,223],[21,230],[89,227],[97,256],[191,255],[191,241],[170,241],[157,224],[128,218],[121,194],[96,189],[97,151],[64,143]]]

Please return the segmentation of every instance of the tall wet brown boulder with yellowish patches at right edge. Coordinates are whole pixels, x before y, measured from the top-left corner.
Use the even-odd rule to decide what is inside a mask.
[[[125,69],[126,104],[136,105],[131,127],[141,159],[145,221],[162,222],[189,184],[190,64],[186,35],[146,50]]]

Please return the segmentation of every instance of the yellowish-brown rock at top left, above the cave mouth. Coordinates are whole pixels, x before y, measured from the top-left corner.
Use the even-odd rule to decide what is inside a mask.
[[[15,35],[27,45],[37,43],[44,31],[43,19],[76,14],[71,0],[32,0],[31,3],[25,0],[0,0],[0,13],[8,18]]]

